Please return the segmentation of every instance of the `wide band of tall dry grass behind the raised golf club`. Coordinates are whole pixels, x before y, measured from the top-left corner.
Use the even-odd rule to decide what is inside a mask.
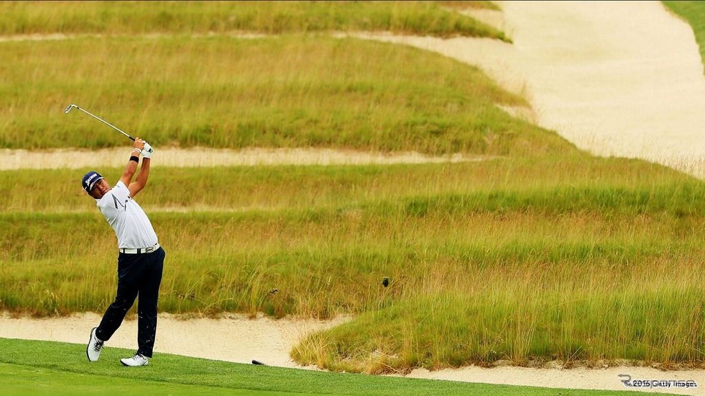
[[[77,104],[154,147],[344,147],[429,154],[555,152],[506,116],[525,101],[477,68],[418,49],[286,36],[1,44],[0,147],[116,147]],[[197,59],[198,61],[194,61]],[[405,65],[405,67],[400,67]]]

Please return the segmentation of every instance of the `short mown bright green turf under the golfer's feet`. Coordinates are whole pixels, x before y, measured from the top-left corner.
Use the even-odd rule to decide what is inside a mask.
[[[442,380],[327,373],[154,354],[149,366],[119,363],[126,349],[106,347],[97,362],[85,345],[0,338],[0,386],[4,395],[76,395],[125,392],[149,395],[625,395],[605,390],[567,390]],[[617,378],[615,378],[617,380]],[[566,384],[568,385],[568,384]]]

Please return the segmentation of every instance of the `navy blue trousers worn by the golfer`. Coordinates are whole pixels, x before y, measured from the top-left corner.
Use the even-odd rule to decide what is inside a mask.
[[[137,295],[137,353],[152,357],[157,336],[157,298],[164,268],[164,249],[147,254],[118,255],[118,292],[105,311],[96,330],[99,340],[107,341],[123,323]]]

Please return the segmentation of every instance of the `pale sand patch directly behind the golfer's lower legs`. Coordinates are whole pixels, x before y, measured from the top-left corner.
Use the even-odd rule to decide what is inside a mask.
[[[0,338],[47,340],[80,344],[76,354],[85,357],[90,330],[100,323],[101,315],[73,314],[51,318],[13,318],[0,315]],[[264,315],[248,318],[228,315],[200,318],[160,314],[154,352],[180,354],[249,364],[253,359],[271,366],[298,367],[289,351],[305,335],[337,326],[348,320],[274,319]],[[137,349],[137,320],[126,318],[106,347]]]

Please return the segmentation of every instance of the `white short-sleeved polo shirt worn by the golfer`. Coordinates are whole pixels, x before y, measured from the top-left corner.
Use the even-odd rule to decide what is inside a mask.
[[[118,181],[115,187],[96,199],[98,208],[115,230],[118,249],[144,249],[157,244],[157,234],[152,223],[139,204],[130,197],[125,183]]]

